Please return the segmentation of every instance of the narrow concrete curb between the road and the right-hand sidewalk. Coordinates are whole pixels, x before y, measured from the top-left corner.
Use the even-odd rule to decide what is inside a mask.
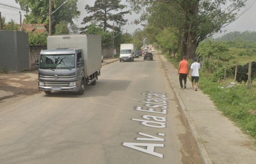
[[[196,127],[195,127],[194,123],[192,122],[192,119],[191,119],[189,113],[187,112],[186,106],[184,105],[184,103],[183,103],[183,101],[182,101],[182,99],[180,97],[180,94],[178,93],[177,89],[175,88],[175,85],[174,85],[173,81],[171,80],[170,75],[167,73],[167,71],[165,69],[165,65],[164,65],[164,63],[163,63],[161,58],[160,58],[160,60],[161,60],[162,66],[164,68],[165,74],[167,75],[168,80],[171,83],[171,86],[172,86],[172,89],[174,91],[174,94],[175,94],[175,96],[176,96],[176,98],[178,100],[178,103],[179,103],[180,107],[181,107],[181,111],[182,111],[183,115],[185,116],[185,119],[186,119],[186,121],[187,121],[187,123],[189,125],[189,130],[190,130],[190,132],[191,132],[191,134],[192,134],[192,136],[193,136],[193,138],[194,138],[194,140],[196,142],[197,149],[198,149],[198,151],[200,153],[201,159],[202,159],[204,164],[212,164],[212,161],[211,161],[211,159],[209,158],[209,156],[207,154],[207,151],[206,151],[206,149],[204,147],[204,144],[199,141],[200,136],[198,135]]]

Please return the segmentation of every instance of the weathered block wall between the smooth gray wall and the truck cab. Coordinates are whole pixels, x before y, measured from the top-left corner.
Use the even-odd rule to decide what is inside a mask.
[[[37,69],[35,60],[40,60],[40,51],[47,49],[46,45],[29,46],[29,69]]]

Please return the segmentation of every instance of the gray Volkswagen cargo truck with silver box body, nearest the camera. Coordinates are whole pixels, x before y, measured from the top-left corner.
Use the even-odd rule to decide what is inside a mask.
[[[59,35],[47,38],[47,50],[36,59],[38,87],[45,94],[72,91],[82,95],[95,85],[101,69],[100,35]]]

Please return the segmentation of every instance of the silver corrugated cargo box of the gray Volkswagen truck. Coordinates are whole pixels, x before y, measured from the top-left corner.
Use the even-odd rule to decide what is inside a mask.
[[[101,69],[100,35],[56,35],[47,37],[47,49],[82,49],[84,71],[90,76]]]

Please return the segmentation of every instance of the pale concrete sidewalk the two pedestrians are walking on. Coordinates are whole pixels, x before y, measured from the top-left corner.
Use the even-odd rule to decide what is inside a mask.
[[[177,69],[158,53],[167,77],[172,84],[181,110],[189,124],[204,163],[255,164],[256,146],[234,122],[216,109],[207,95],[192,90],[188,80],[187,89],[180,89]]]

